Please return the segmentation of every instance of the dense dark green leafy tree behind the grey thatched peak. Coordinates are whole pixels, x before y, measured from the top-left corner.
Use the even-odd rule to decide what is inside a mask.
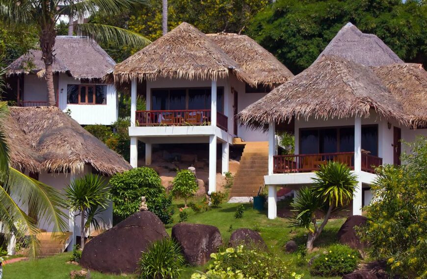
[[[425,1],[277,0],[257,14],[247,34],[297,74],[347,22],[377,35],[401,59],[427,66]]]

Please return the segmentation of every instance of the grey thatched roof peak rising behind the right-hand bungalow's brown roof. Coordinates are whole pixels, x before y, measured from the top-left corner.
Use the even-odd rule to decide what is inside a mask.
[[[334,55],[365,66],[384,66],[403,63],[393,50],[374,34],[362,33],[356,26],[347,23],[320,53]]]

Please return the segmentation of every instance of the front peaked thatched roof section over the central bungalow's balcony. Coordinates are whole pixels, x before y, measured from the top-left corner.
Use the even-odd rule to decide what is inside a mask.
[[[188,23],[175,29],[117,64],[115,82],[158,77],[219,79],[234,73],[240,80],[255,85],[218,45]]]

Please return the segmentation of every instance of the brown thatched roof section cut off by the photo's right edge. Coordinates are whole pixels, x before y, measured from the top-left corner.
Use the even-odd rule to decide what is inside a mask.
[[[421,64],[394,64],[372,68],[402,105],[414,127],[427,126],[427,71]]]

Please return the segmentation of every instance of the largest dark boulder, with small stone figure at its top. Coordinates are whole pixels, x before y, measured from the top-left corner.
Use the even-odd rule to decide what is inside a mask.
[[[84,246],[80,265],[105,273],[133,273],[152,242],[168,237],[163,223],[150,211],[139,211]]]

